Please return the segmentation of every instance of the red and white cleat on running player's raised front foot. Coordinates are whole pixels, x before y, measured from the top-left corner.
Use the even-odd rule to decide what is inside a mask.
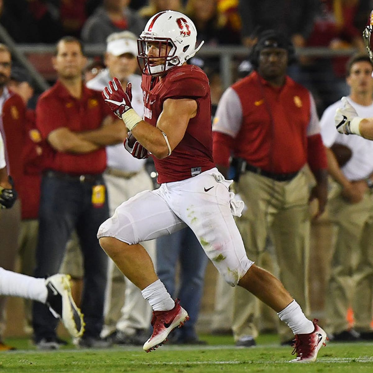
[[[153,311],[151,325],[153,334],[142,347],[146,352],[155,350],[167,341],[167,336],[173,329],[184,325],[189,320],[188,313],[180,305],[180,300],[175,300],[175,307],[169,311]]]

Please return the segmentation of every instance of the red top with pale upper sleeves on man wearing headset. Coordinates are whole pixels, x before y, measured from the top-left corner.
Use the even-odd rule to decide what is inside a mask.
[[[309,161],[310,151],[320,151],[312,141],[320,139],[316,107],[302,85],[287,76],[282,87],[273,87],[253,72],[230,90],[214,120],[217,163],[228,164],[231,150],[266,171],[292,173]],[[317,167],[325,163],[325,154],[320,157]]]

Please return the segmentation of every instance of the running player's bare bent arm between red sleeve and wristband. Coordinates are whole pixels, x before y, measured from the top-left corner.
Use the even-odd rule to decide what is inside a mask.
[[[169,155],[169,148],[164,134],[167,136],[171,151],[179,144],[185,135],[189,119],[197,114],[197,102],[189,98],[167,99],[157,121],[157,127],[142,120],[132,133],[150,153],[162,159]]]

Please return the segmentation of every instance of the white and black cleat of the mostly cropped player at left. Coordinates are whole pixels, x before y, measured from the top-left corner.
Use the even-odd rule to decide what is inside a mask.
[[[46,279],[48,296],[46,304],[54,317],[62,319],[68,332],[73,337],[84,333],[83,314],[76,306],[70,288],[69,275],[53,275]]]

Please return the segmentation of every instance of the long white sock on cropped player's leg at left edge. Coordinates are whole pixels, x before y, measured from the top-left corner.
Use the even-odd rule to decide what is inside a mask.
[[[46,303],[48,291],[44,279],[7,271],[0,267],[0,295],[27,298]]]

